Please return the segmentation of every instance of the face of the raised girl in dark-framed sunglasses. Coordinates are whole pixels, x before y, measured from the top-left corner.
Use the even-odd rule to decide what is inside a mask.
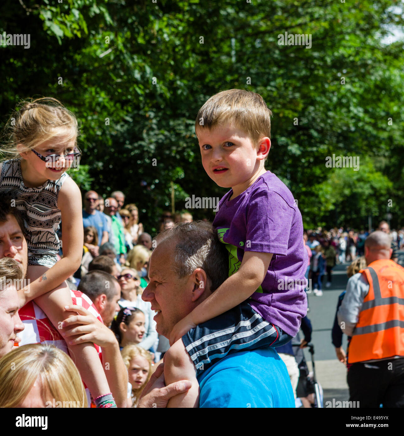
[[[65,155],[74,153],[75,138],[67,140],[65,136],[57,136],[52,140],[38,144],[34,150],[43,157],[51,154]],[[65,157],[59,160],[44,162],[32,150],[21,153],[21,157],[29,165],[30,176],[38,180],[58,180],[61,175],[72,166],[73,162],[66,162]]]

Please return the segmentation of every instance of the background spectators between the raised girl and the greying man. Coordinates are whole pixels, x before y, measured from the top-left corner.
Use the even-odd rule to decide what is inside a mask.
[[[98,277],[98,272],[107,272],[117,279],[121,298],[117,300],[114,319],[105,319],[104,311],[103,320],[119,344],[131,384],[132,402],[128,404],[136,407],[154,364],[161,361],[169,348],[167,339],[157,334],[151,304],[142,300],[142,293],[150,281],[152,237],[139,222],[136,204],[125,205],[123,192],[114,191],[104,199],[97,192],[88,191],[83,201],[83,257],[80,268],[68,279],[69,287],[94,300],[97,295],[92,289],[102,287],[105,279]],[[172,216],[165,211],[157,228],[162,232],[179,222],[192,221],[189,212]],[[63,242],[62,233],[60,237]]]

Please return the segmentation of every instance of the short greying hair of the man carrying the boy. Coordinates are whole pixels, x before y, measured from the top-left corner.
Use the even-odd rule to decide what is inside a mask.
[[[175,227],[159,233],[155,241],[159,245],[166,239],[175,241],[176,244],[171,270],[178,278],[188,277],[195,269],[201,268],[210,280],[211,291],[218,289],[228,278],[228,251],[220,242],[211,223],[178,223]]]

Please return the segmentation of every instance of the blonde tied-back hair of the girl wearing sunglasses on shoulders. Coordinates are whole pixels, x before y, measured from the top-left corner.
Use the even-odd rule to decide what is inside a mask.
[[[3,130],[2,154],[8,159],[19,157],[55,136],[66,136],[66,143],[75,140],[79,126],[73,112],[52,97],[24,100],[18,103]],[[21,149],[17,150],[17,145]]]

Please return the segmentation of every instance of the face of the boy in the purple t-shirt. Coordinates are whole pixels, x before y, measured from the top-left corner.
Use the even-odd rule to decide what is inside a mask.
[[[257,150],[241,129],[231,125],[204,128],[197,130],[197,136],[204,170],[218,186],[231,187],[236,195],[241,194],[262,171],[261,160],[269,148],[262,154],[262,142]],[[270,147],[269,138],[266,140]]]

